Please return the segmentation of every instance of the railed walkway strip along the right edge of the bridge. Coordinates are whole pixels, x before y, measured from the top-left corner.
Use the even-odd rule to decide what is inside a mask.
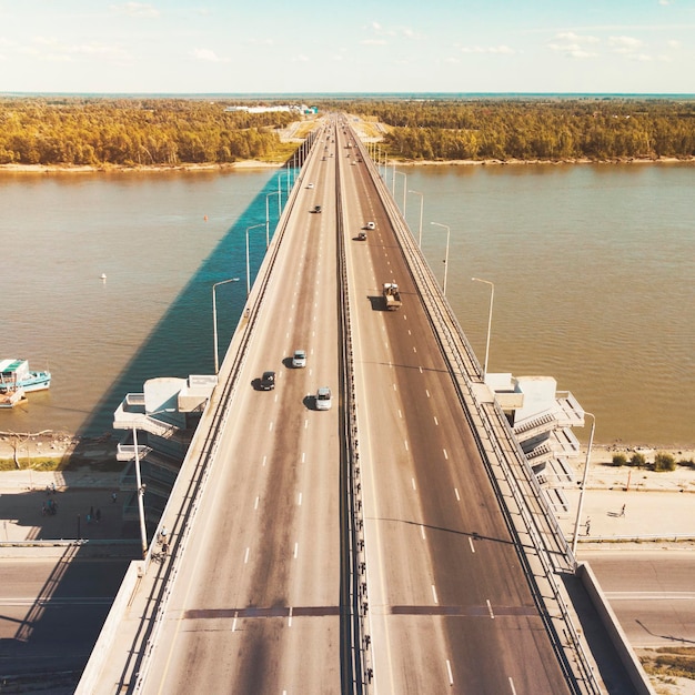
[[[476,396],[474,383],[479,387],[485,386],[483,384],[483,372],[475,353],[467,342],[449,302],[443,296],[421,250],[415,245],[414,236],[391,197],[387,187],[366,154],[364,145],[360,142],[359,147],[362,158],[367,162],[372,180],[380,191],[406,266],[427,311],[433,333],[440,343],[442,354],[454,377],[464,413],[475,435],[479,451],[500,501],[510,533],[516,540],[517,554],[525,567],[534,601],[545,623],[553,649],[558,657],[558,663],[565,672],[567,684],[576,693],[601,693],[601,687],[593,673],[591,659],[576,633],[567,605],[560,591],[555,577],[556,568],[548,560],[550,556],[560,557],[564,561],[567,568],[571,567],[573,570],[574,557],[571,548],[560,530],[555,515],[552,514],[548,507],[547,501],[543,497],[535,475],[528,466],[517,441],[511,433],[508,423],[500,406],[494,400],[492,403],[482,404]],[[521,474],[518,477],[525,490],[522,490],[520,480],[517,480],[517,475],[514,475],[513,471]],[[510,502],[505,498],[501,486],[503,484],[508,488],[508,494],[523,524],[522,530],[528,537],[534,556],[537,557],[542,565],[543,580],[550,586],[553,601],[558,607],[560,616],[556,620],[560,620],[564,625],[563,632],[570,642],[568,648],[573,652],[572,658],[568,657],[567,647],[563,644],[552,616],[546,610],[546,602],[540,590],[538,580],[531,566],[527,551],[524,552],[523,550],[525,544],[520,536],[522,530],[517,528],[514,523],[513,515],[508,508]],[[528,508],[531,502],[536,507],[534,513],[531,513]],[[542,528],[540,527],[541,525]],[[555,547],[548,548],[548,538],[553,540]],[[573,664],[575,668],[573,668]]]

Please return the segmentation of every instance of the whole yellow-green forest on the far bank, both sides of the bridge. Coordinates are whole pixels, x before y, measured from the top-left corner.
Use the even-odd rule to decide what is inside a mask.
[[[193,98],[0,98],[0,164],[175,167],[283,162],[279,129],[298,111]],[[280,103],[269,100],[266,104]],[[323,99],[372,122],[412,161],[624,161],[695,158],[695,100],[637,98]],[[376,125],[376,123],[382,125]]]

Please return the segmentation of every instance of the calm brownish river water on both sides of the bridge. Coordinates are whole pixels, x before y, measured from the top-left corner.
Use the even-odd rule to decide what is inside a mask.
[[[695,167],[400,168],[395,199],[488,371],[550,374],[596,442],[695,444]],[[49,366],[49,392],[0,431],[111,431],[150,376],[213,371],[245,296],[245,234],[278,218],[279,173],[0,175],[0,356]],[[284,181],[283,181],[284,187]],[[391,185],[391,182],[390,182]],[[283,197],[284,201],[284,197]],[[264,225],[263,225],[264,226]],[[250,232],[251,270],[265,230]],[[107,279],[102,280],[101,275]]]

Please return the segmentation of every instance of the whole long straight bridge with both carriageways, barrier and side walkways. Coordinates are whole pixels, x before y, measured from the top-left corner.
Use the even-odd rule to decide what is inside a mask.
[[[342,117],[313,134],[162,526],[78,693],[606,689],[572,551]]]

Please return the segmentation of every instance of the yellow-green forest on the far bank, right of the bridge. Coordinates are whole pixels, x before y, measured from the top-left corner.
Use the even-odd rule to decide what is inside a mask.
[[[693,100],[393,99],[339,108],[387,124],[390,154],[409,160],[695,157]]]

